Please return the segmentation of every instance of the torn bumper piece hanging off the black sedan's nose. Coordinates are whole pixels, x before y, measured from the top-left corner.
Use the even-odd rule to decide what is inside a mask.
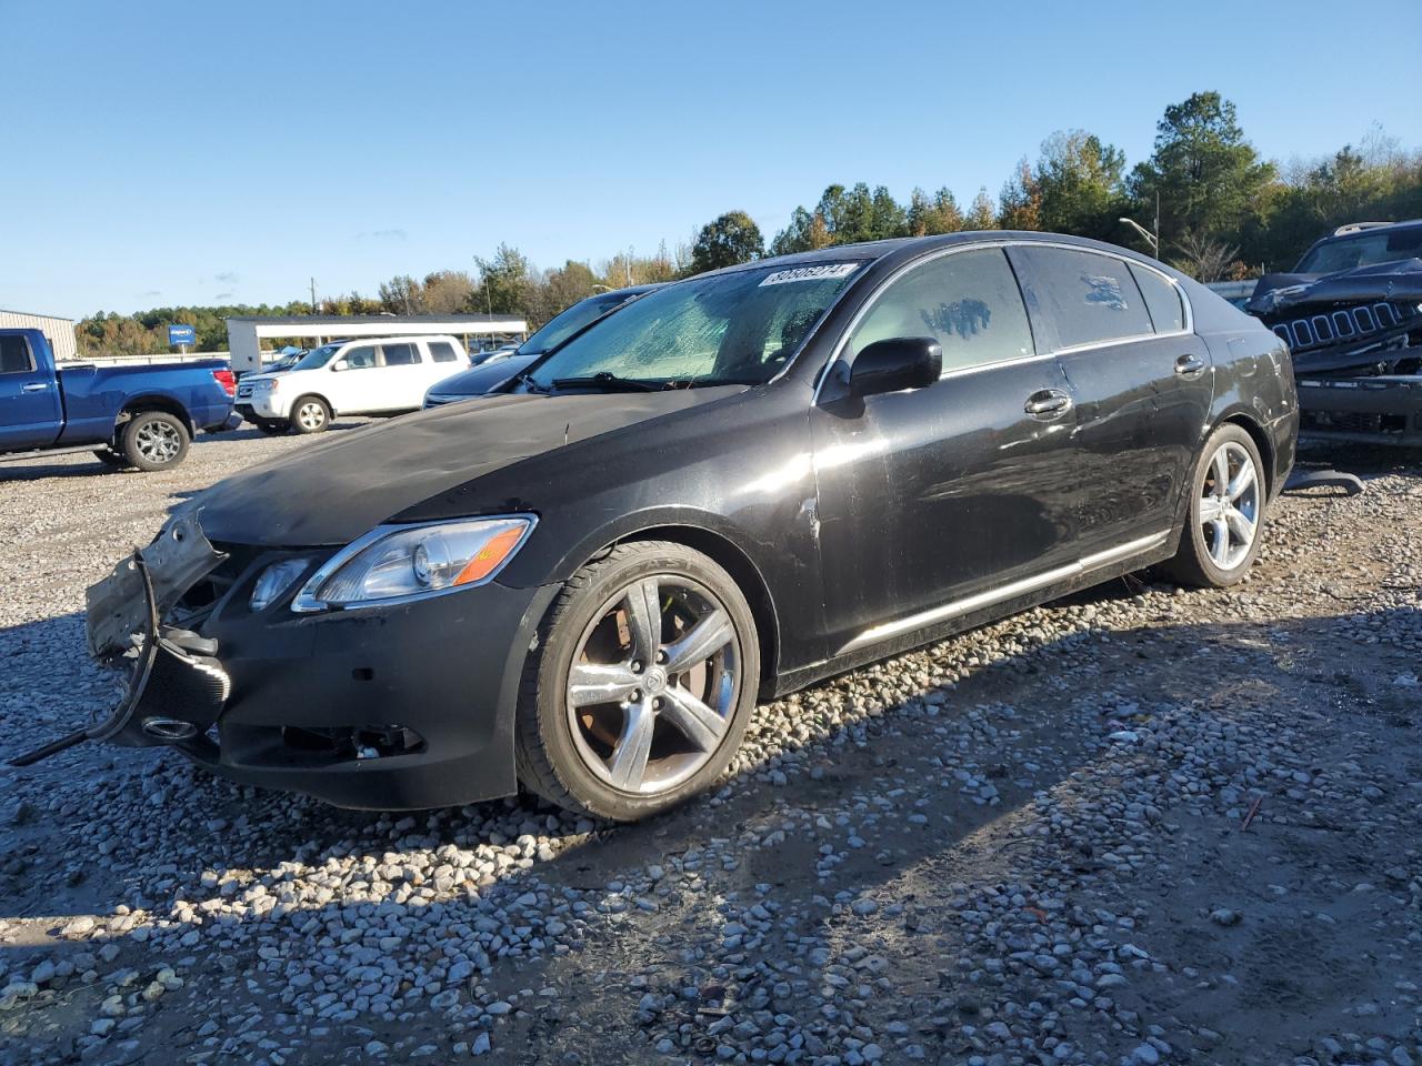
[[[225,556],[195,515],[175,519],[148,547],[88,590],[90,654],[125,669],[118,705],[98,722],[26,752],[30,766],[84,741],[142,748],[181,743],[210,729],[232,691],[218,642],[159,618]]]

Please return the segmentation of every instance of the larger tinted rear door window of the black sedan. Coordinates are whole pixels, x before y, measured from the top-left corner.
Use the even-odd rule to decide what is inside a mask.
[[[1111,344],[1155,333],[1140,289],[1125,260],[1095,252],[1015,244],[1012,263],[1034,324],[1041,320],[1054,348]]]

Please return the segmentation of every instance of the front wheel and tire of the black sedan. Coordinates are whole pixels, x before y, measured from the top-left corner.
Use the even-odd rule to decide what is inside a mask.
[[[516,714],[519,779],[577,813],[658,814],[725,770],[759,679],[755,618],[725,570],[673,542],[619,544],[540,627]]]

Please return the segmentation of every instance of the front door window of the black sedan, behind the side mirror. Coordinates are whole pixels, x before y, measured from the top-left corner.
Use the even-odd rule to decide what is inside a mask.
[[[1012,269],[1000,247],[939,256],[884,289],[849,338],[857,355],[875,341],[933,337],[943,372],[1035,354]]]

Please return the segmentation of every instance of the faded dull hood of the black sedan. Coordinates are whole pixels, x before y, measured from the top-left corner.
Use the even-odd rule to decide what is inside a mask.
[[[560,448],[745,392],[744,385],[665,392],[495,395],[383,424],[331,431],[319,443],[252,466],[175,510],[201,509],[215,542],[264,547],[344,544],[481,476]],[[478,513],[478,486],[472,485]],[[536,503],[536,502],[535,502]]]

